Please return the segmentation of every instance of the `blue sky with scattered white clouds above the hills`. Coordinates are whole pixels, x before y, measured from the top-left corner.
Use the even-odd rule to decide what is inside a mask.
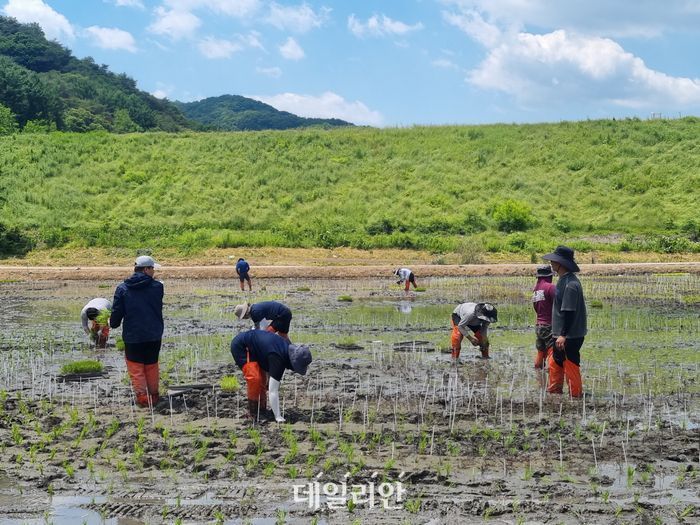
[[[700,0],[0,0],[171,100],[372,126],[700,114]]]

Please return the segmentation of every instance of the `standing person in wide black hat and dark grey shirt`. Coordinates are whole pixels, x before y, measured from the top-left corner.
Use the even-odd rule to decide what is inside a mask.
[[[556,340],[548,361],[547,391],[561,394],[566,378],[569,395],[581,397],[581,347],[588,328],[583,288],[575,275],[580,270],[574,260],[574,250],[567,246],[557,246],[554,252],[542,258],[550,261],[552,270],[559,276],[552,307],[552,335]]]

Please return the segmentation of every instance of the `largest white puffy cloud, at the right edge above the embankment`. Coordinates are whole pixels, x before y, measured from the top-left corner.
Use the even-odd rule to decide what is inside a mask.
[[[563,30],[520,33],[492,49],[467,80],[527,105],[572,100],[634,108],[700,104],[699,79],[654,71],[613,40]]]

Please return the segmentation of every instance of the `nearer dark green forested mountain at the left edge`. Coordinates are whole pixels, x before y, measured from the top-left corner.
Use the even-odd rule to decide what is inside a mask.
[[[38,24],[0,17],[0,133],[13,129],[63,131],[179,131],[180,111],[136,88],[90,58],[44,36]]]

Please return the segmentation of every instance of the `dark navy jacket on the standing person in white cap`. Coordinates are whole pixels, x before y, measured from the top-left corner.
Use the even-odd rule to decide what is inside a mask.
[[[109,325],[124,320],[125,343],[146,343],[163,337],[163,283],[141,272],[125,279],[114,291]]]

